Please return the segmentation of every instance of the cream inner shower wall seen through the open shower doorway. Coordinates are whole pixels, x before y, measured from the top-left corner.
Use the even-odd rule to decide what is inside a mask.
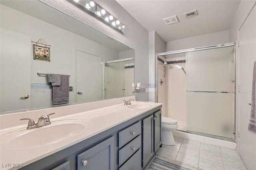
[[[185,60],[185,53],[181,57],[165,59],[163,61]],[[170,63],[165,65],[158,61],[158,102],[162,105],[162,116],[170,117],[178,121],[178,129],[186,130],[186,75],[180,68],[186,70],[186,63]],[[164,83],[160,85],[160,80]]]

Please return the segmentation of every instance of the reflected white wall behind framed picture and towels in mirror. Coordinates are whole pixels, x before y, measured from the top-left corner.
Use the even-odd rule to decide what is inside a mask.
[[[37,72],[68,74],[70,75],[70,85],[74,88],[76,49],[100,56],[102,61],[118,59],[118,51],[3,5],[1,5],[1,27],[29,35],[34,42],[44,38],[46,43],[51,45],[51,61],[47,62],[33,59],[33,43],[31,43],[31,56],[28,56],[31,58],[31,108],[52,105],[51,89],[34,86],[34,83],[47,84],[46,77],[38,76]],[[69,103],[74,103],[74,91],[75,89],[70,92]]]

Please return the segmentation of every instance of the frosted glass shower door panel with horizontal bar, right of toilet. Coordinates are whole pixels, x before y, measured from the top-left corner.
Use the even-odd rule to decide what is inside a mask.
[[[187,130],[234,139],[234,46],[187,53]]]

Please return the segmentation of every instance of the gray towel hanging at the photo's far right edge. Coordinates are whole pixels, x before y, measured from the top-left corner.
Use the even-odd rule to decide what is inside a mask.
[[[252,76],[252,107],[248,131],[256,134],[256,61],[254,61],[253,76]]]

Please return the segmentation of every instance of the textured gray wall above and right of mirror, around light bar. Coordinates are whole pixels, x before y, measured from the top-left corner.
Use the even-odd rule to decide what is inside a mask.
[[[118,2],[114,0],[97,0],[99,6],[118,18],[126,25],[125,33],[112,28],[94,15],[75,6],[71,1],[64,0],[40,0],[64,14],[81,21],[88,26],[132,47],[135,50],[135,82],[148,84],[148,31],[143,28]],[[73,1],[72,1],[73,2]],[[134,31],[136,30],[136,31]],[[138,65],[138,67],[136,67]],[[148,93],[135,93],[136,100],[148,101]]]

